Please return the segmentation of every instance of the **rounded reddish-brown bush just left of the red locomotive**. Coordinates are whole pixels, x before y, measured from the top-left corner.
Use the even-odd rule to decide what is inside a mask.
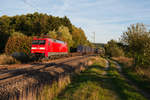
[[[15,52],[22,52],[29,55],[31,50],[31,43],[31,37],[25,36],[19,32],[14,32],[7,41],[5,53],[11,55]]]

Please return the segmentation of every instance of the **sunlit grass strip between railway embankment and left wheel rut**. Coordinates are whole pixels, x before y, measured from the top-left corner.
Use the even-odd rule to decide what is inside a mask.
[[[120,100],[103,75],[104,63],[100,58],[85,72],[74,75],[71,84],[54,100]]]

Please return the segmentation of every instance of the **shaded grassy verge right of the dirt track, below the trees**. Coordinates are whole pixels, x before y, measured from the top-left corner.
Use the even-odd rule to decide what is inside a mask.
[[[122,65],[125,76],[144,92],[150,93],[150,68],[133,68],[129,58],[115,58]]]

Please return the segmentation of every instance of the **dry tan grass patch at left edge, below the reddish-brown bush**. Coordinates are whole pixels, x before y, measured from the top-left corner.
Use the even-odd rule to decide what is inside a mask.
[[[19,63],[19,61],[14,59],[12,56],[8,56],[6,54],[0,55],[0,65],[16,64],[16,63]]]

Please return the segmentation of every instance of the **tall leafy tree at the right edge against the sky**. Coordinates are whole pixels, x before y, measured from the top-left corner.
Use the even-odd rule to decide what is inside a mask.
[[[150,64],[150,32],[144,24],[137,23],[128,27],[121,37],[121,42],[128,46],[136,67]]]

